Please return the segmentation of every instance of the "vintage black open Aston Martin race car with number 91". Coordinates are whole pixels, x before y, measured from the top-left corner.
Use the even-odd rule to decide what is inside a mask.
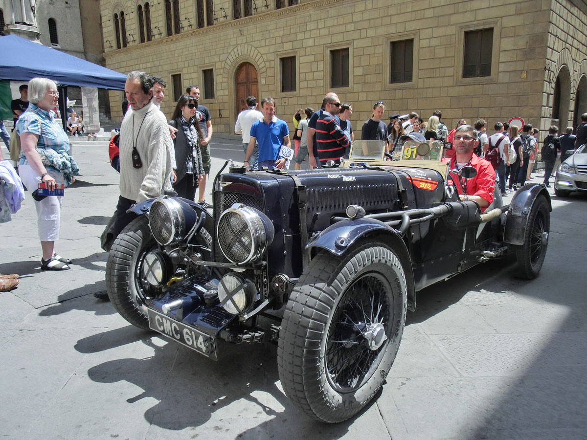
[[[136,205],[144,215],[107,261],[114,307],[213,360],[218,340],[278,341],[294,404],[326,422],[353,417],[382,387],[416,292],[508,253],[532,279],[548,245],[544,187],[525,185],[507,206],[495,191],[482,213],[459,201],[442,144],[385,155],[359,141],[340,166],[232,166],[215,178],[213,216],[177,197]]]

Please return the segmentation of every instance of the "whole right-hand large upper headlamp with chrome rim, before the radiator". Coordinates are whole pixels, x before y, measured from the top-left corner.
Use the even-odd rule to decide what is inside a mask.
[[[222,253],[237,265],[261,259],[275,235],[268,216],[236,203],[222,212],[216,232]]]

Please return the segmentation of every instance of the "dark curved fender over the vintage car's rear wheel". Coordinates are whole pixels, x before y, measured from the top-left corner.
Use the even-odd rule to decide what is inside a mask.
[[[536,199],[544,195],[548,201],[548,209],[552,211],[550,194],[539,184],[526,184],[518,189],[508,208],[505,221],[504,242],[510,245],[523,245],[528,215]]]

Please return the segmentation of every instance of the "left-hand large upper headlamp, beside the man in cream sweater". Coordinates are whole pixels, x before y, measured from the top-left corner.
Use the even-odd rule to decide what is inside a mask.
[[[177,198],[163,196],[149,209],[151,233],[163,246],[185,239],[197,219],[194,208]]]

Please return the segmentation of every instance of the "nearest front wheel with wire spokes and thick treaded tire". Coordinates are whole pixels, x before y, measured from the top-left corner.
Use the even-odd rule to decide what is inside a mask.
[[[373,400],[396,357],[407,287],[396,253],[365,242],[319,253],[290,295],[279,333],[285,394],[311,417],[341,422]]]

